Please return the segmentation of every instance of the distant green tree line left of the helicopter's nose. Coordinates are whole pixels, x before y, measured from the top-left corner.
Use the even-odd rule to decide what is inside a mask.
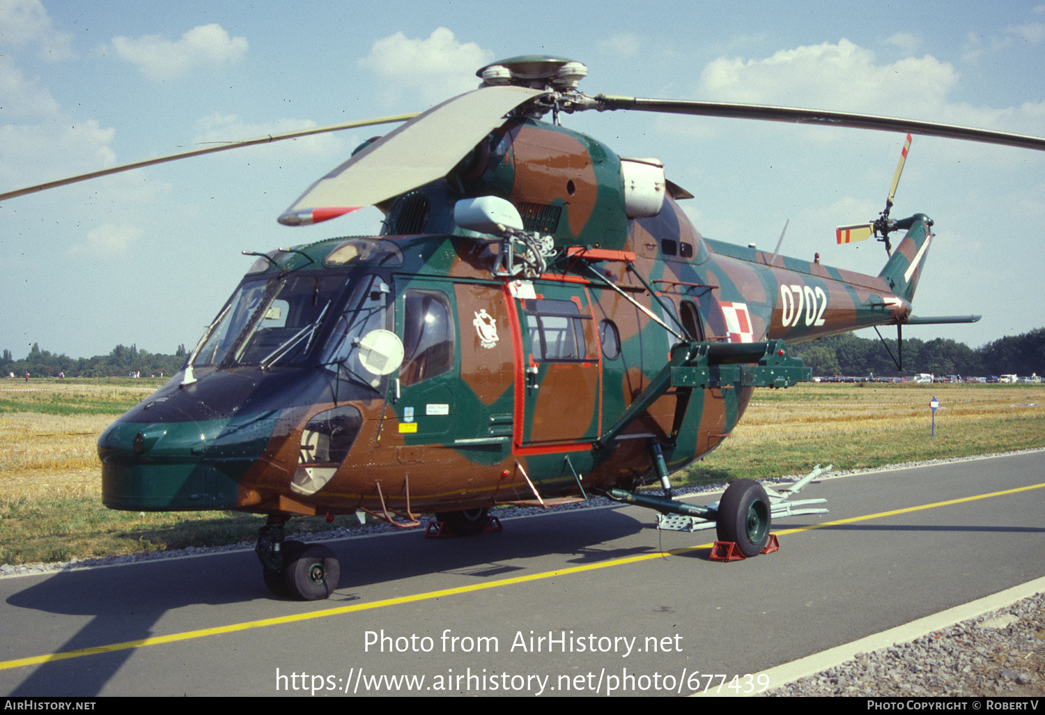
[[[33,343],[29,354],[22,360],[15,360],[10,350],[4,350],[0,359],[0,375],[14,373],[16,377],[24,377],[28,372],[32,377],[57,377],[60,374],[66,377],[118,377],[135,373],[142,377],[169,377],[182,369],[188,354],[184,345],[179,345],[172,355],[139,350],[137,345],[117,345],[108,355],[69,358],[64,353],[56,355],[49,350],[41,350],[40,345]]]

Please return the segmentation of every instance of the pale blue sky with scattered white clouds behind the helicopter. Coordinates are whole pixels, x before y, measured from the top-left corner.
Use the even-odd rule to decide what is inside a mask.
[[[0,0],[0,191],[299,128],[417,112],[519,54],[587,66],[598,93],[808,107],[1045,136],[1045,4],[868,0]],[[644,113],[563,123],[657,157],[705,236],[877,274],[835,245],[884,208],[899,134]],[[0,203],[0,348],[72,358],[195,344],[254,261],[372,235],[369,208],[276,223],[393,125],[137,169]],[[914,137],[892,217],[936,239],[905,338],[971,347],[1045,325],[1045,153]],[[874,331],[862,337],[874,338]],[[895,337],[891,331],[884,331]]]

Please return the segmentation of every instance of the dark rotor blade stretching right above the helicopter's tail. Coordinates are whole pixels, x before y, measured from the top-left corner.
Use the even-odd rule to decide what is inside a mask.
[[[1045,152],[1045,139],[1024,134],[1009,134],[992,130],[942,124],[918,119],[897,119],[878,117],[870,114],[829,112],[823,110],[796,109],[793,107],[765,107],[762,105],[734,105],[717,101],[696,101],[684,99],[642,99],[600,94],[595,97],[601,109],[638,110],[642,112],[664,112],[666,114],[693,114],[705,117],[727,117],[732,119],[761,119],[763,121],[786,121],[798,124],[823,124],[870,129],[883,132],[909,132],[932,137],[966,139],[989,144],[1019,146]]]

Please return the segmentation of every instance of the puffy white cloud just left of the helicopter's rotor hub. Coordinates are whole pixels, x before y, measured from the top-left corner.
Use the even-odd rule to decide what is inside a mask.
[[[375,40],[370,54],[359,61],[388,79],[390,90],[418,89],[426,101],[438,102],[479,86],[475,70],[493,53],[473,42],[461,43],[445,27],[427,40],[411,40],[402,32]]]

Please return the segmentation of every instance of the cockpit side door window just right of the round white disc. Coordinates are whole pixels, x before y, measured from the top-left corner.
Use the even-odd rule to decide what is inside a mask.
[[[405,359],[399,379],[414,385],[454,366],[454,314],[441,291],[407,291],[403,305]]]

